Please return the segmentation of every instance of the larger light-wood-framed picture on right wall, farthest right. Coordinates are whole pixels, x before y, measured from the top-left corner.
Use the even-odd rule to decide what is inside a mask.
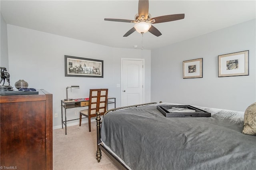
[[[248,53],[249,50],[218,55],[218,77],[249,75]]]

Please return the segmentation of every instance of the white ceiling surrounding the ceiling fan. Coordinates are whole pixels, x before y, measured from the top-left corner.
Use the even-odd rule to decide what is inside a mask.
[[[134,20],[138,0],[1,0],[1,13],[7,24],[66,36],[110,47],[141,48],[138,32],[123,35],[134,24],[104,21],[104,18]],[[149,0],[152,18],[185,14],[183,20],[154,24],[162,33],[144,34],[144,49],[154,49],[187,40],[256,18],[256,1],[172,1]]]

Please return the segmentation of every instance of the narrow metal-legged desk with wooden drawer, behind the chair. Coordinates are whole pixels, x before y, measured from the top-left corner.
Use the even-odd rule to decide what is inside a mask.
[[[75,99],[76,100],[76,99]],[[71,101],[64,101],[61,100],[61,123],[62,123],[62,128],[63,125],[65,125],[65,134],[67,134],[67,122],[68,121],[74,121],[74,120],[78,120],[78,119],[71,119],[71,120],[67,120],[66,117],[66,110],[67,109],[71,109],[71,108],[75,108],[75,107],[88,107],[89,106],[89,101],[88,100],[71,100]],[[114,103],[114,106],[116,108],[116,98],[115,97],[108,97],[108,105]],[[107,105],[107,110],[108,110],[108,105]],[[65,109],[65,120],[63,121],[63,108]],[[84,119],[86,117],[83,117],[82,119]]]

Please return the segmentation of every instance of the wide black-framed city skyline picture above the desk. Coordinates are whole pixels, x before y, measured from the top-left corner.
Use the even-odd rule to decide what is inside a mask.
[[[103,78],[103,60],[65,55],[65,77]]]

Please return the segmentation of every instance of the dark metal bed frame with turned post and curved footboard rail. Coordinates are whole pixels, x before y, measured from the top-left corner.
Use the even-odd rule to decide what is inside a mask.
[[[160,102],[161,103],[161,102]],[[144,106],[144,105],[151,105],[151,104],[156,104],[156,102],[152,102],[152,103],[144,103],[144,104],[139,104],[139,105],[131,105],[131,106],[126,106],[126,107],[119,107],[116,109],[110,109],[108,111],[106,111],[104,113],[104,115],[106,115],[109,112],[112,111],[116,111],[119,109],[126,109],[126,108],[131,108],[131,107],[138,107],[138,106]],[[109,150],[107,150],[107,148],[102,144],[101,140],[100,140],[100,128],[101,128],[101,124],[102,124],[102,120],[100,118],[100,112],[96,113],[96,123],[97,123],[97,151],[96,151],[96,159],[98,160],[98,162],[100,162],[101,159],[101,150],[113,161],[116,163],[116,165],[119,166],[119,168],[121,170],[128,170],[128,168],[114,155],[112,154]],[[103,117],[104,117],[103,115]],[[102,117],[102,119],[103,119]]]

